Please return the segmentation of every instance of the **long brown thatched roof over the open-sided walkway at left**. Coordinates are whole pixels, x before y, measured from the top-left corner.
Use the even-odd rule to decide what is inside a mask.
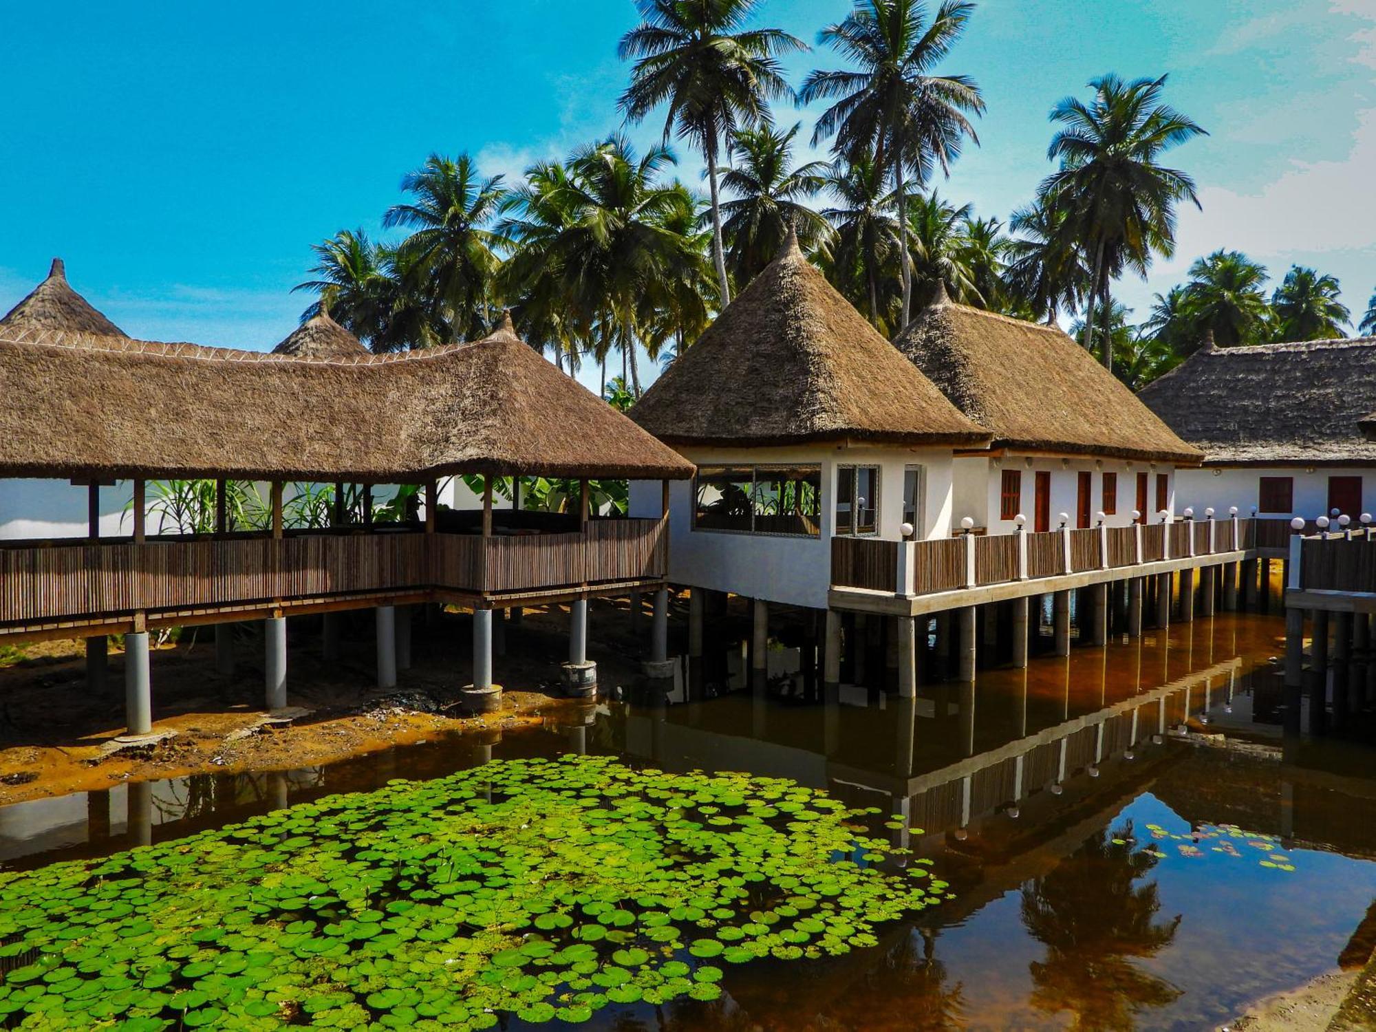
[[[677,453],[512,336],[312,359],[0,330],[0,475],[416,483],[687,477]]]

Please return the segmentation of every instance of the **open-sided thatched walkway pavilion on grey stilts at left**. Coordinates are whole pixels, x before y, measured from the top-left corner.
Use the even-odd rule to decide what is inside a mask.
[[[55,263],[0,323],[0,392],[11,399],[0,499],[36,479],[89,499],[84,539],[0,541],[0,644],[84,637],[99,676],[106,636],[124,634],[131,732],[151,721],[149,632],[169,626],[264,621],[270,707],[286,702],[285,621],[300,614],[376,608],[378,682],[389,687],[395,607],[471,608],[473,685],[487,688],[494,611],[568,601],[578,665],[588,599],[652,592],[662,658],[663,506],[597,519],[588,480],[656,480],[667,498],[692,466],[560,374],[509,321],[473,344],[395,355],[369,354],[323,312],[278,354],[140,341],[72,292]],[[483,508],[443,512],[440,483],[464,473],[483,477]],[[581,509],[494,505],[494,482],[526,476],[582,482]],[[213,533],[149,520],[150,484],[187,479],[216,484]],[[267,484],[263,530],[230,523],[235,480]],[[288,527],[283,499],[310,484],[336,486],[330,526]],[[366,502],[345,509],[345,486],[366,499],[376,484],[417,486],[422,501],[389,524]],[[128,520],[111,527],[102,495],[121,497]]]

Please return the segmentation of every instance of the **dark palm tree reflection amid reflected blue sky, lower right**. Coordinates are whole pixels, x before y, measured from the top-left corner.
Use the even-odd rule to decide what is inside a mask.
[[[1134,843],[1132,821],[1094,834],[1043,878],[1022,886],[1022,923],[1046,945],[1032,963],[1032,1006],[1069,1010],[1076,1029],[1132,1029],[1181,991],[1132,963],[1175,938],[1182,915],[1157,921],[1157,859]]]

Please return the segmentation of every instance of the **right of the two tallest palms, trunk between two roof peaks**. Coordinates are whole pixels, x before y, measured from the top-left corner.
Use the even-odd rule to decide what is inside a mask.
[[[799,91],[804,103],[834,99],[813,132],[813,143],[835,138],[849,161],[871,158],[894,184],[899,235],[908,253],[907,182],[926,183],[934,166],[949,175],[966,136],[978,144],[970,116],[984,111],[980,88],[967,76],[933,76],[933,67],[965,32],[973,3],[943,0],[930,25],[921,0],[857,0],[845,21],[827,26],[820,41],[859,69],[815,70]],[[912,270],[900,263],[900,329],[912,304]]]

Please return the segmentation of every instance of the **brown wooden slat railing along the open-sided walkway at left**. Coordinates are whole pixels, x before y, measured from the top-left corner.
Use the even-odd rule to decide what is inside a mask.
[[[654,519],[493,538],[378,533],[21,545],[0,548],[0,625],[374,592],[501,594],[666,572],[666,527]]]

